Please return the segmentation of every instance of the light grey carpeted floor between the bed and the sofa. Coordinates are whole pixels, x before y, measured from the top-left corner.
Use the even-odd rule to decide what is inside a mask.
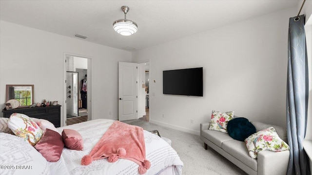
[[[205,150],[199,136],[139,119],[123,122],[140,126],[148,131],[158,130],[160,136],[171,139],[171,146],[176,150],[184,163],[183,175],[247,175],[210,147],[208,147],[208,150]]]

